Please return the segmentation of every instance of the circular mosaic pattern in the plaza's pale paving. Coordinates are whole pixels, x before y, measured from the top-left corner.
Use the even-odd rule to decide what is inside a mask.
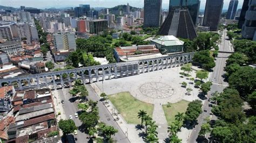
[[[139,90],[143,95],[152,98],[166,98],[174,93],[174,89],[170,85],[161,82],[145,83],[140,86]]]

